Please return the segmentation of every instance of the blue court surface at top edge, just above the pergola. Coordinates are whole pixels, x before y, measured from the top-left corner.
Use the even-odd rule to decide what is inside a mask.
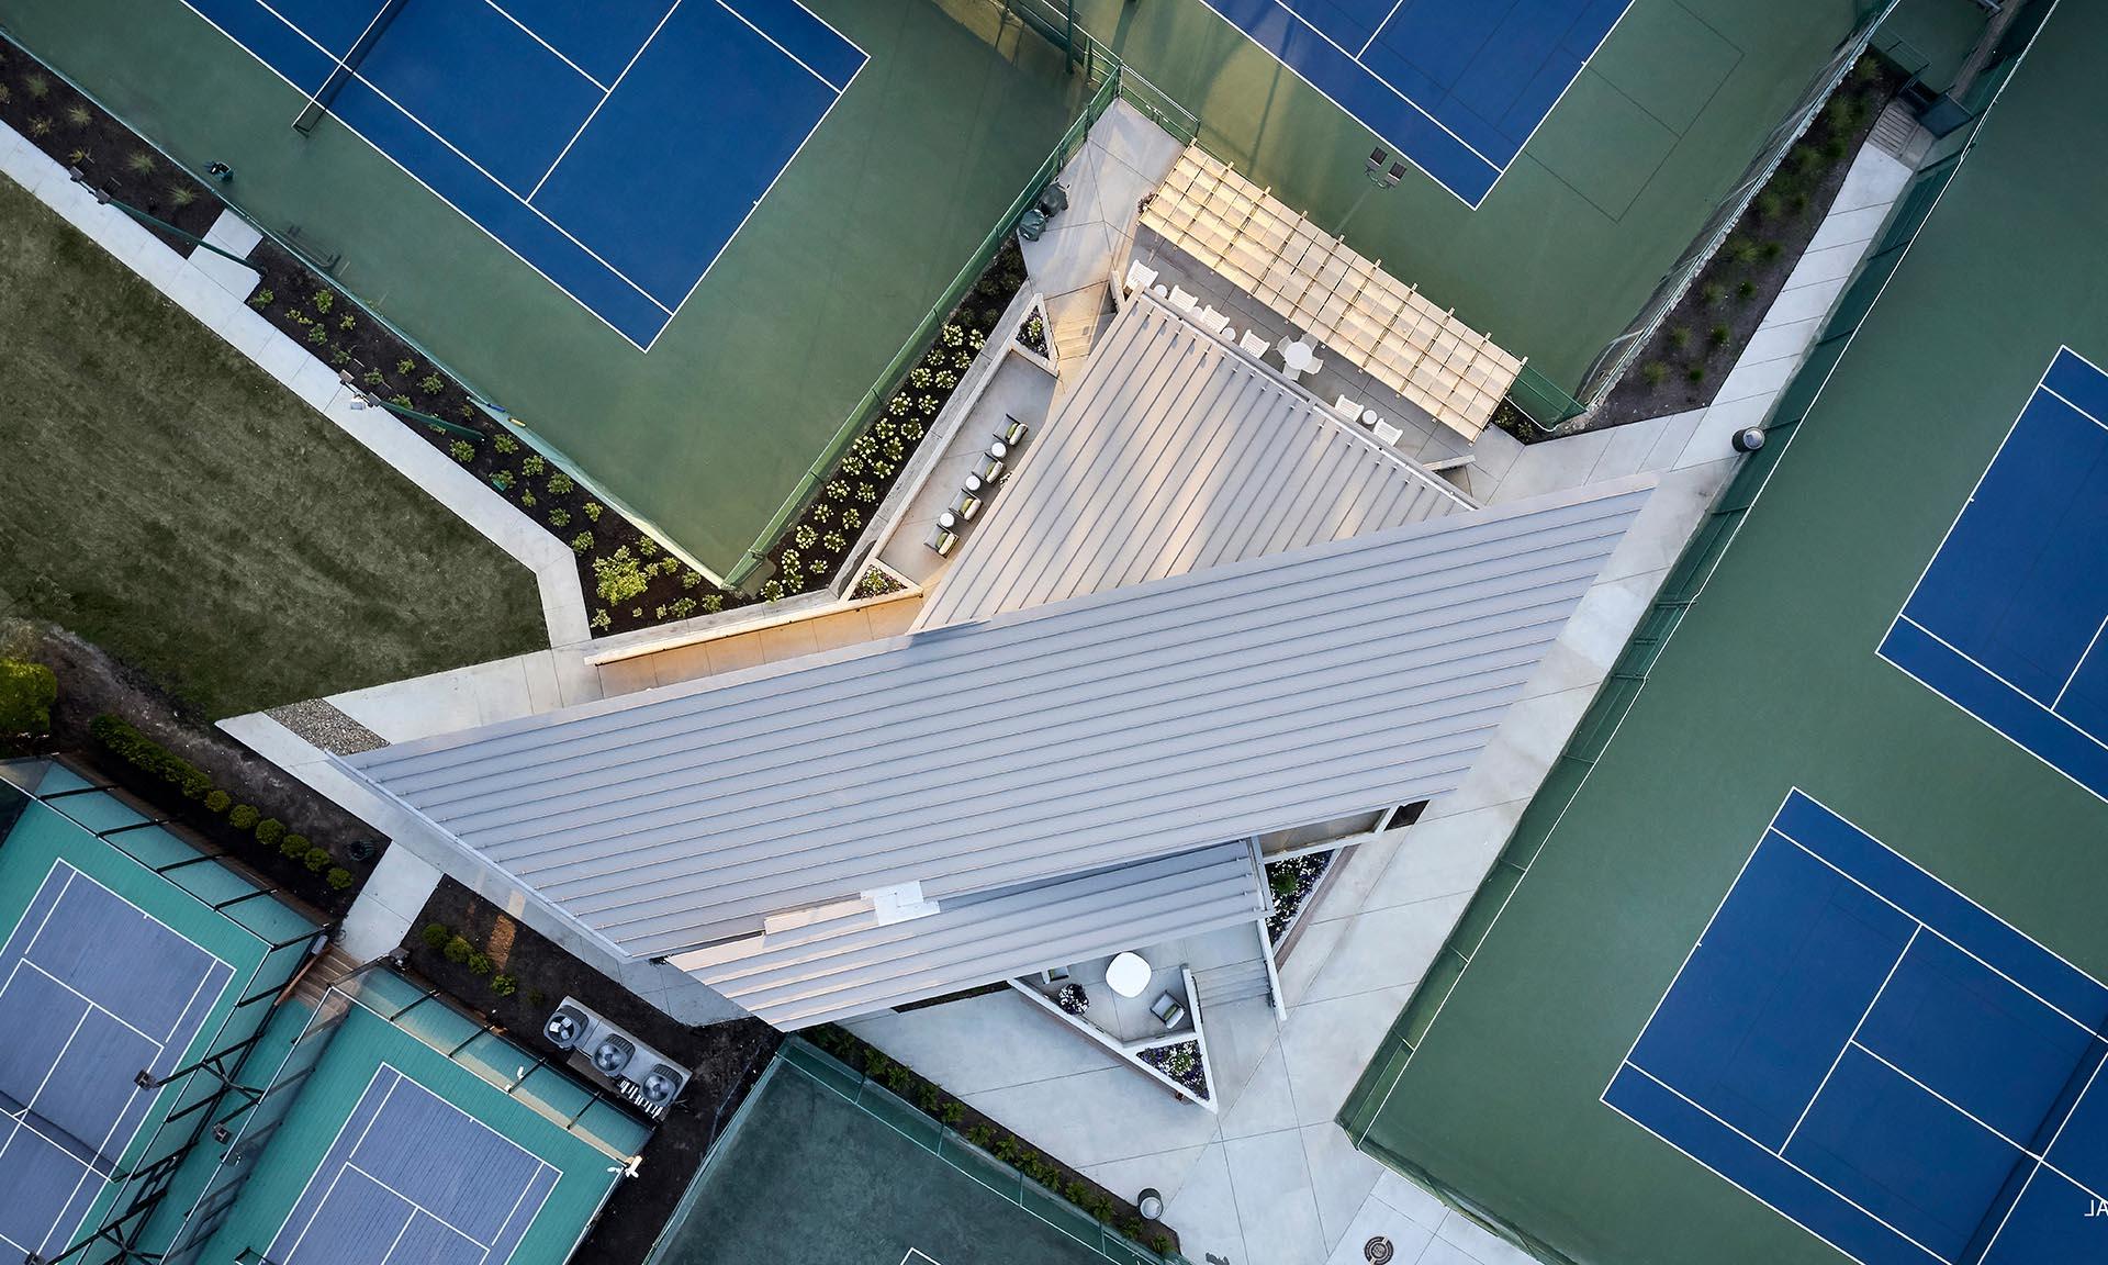
[[[1478,207],[1629,0],[1208,0]]]

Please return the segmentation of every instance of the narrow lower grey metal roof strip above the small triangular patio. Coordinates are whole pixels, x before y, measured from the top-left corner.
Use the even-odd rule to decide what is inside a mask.
[[[670,961],[790,1031],[1263,915],[1258,864],[1237,841],[959,896],[911,921],[854,911]]]

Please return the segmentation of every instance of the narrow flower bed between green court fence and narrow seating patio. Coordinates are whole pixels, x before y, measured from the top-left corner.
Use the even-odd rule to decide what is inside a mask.
[[[906,382],[828,470],[820,495],[769,546],[776,571],[761,584],[765,601],[820,588],[841,569],[866,519],[892,491],[1022,285],[1024,255],[1016,240],[1006,240],[974,289],[951,310]]]

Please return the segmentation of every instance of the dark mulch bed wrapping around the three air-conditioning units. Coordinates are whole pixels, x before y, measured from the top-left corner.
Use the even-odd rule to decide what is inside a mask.
[[[489,953],[493,974],[516,978],[519,991],[500,997],[487,976],[430,949],[417,932],[434,921]],[[417,974],[481,1010],[510,1039],[538,1054],[557,1054],[542,1035],[548,1012],[565,997],[578,997],[689,1069],[687,1088],[645,1143],[639,1174],[616,1187],[607,1212],[578,1252],[580,1261],[594,1265],[639,1265],[672,1217],[675,1204],[687,1193],[710,1143],[782,1044],[782,1033],[759,1018],[687,1027],[453,879],[441,879],[424,913],[417,915],[407,949]]]

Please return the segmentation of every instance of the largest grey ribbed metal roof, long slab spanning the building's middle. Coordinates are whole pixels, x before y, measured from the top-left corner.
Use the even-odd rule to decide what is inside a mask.
[[[653,957],[1452,789],[1653,487],[1410,523],[346,767]]]

